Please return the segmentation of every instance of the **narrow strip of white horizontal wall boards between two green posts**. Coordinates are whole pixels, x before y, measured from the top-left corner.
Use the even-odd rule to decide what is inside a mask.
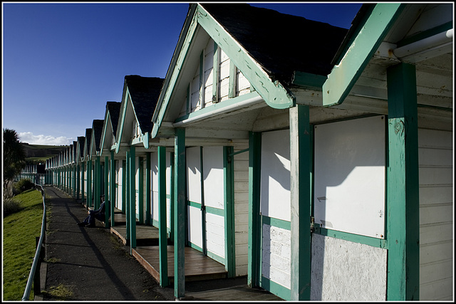
[[[246,147],[236,145],[234,152]],[[249,244],[249,153],[234,155],[234,243],[236,276],[247,275]]]

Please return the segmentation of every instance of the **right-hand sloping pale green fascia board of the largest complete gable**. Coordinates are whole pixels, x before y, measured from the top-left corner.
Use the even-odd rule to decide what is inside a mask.
[[[254,61],[247,51],[199,4],[196,15],[199,25],[242,71],[245,78],[271,108],[294,107],[296,104],[294,96],[279,81],[273,82],[257,61]]]

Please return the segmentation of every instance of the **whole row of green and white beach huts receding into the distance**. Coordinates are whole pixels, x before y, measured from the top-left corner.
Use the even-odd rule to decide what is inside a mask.
[[[284,300],[454,300],[453,13],[190,4],[166,78],[126,75],[47,182],[105,194],[130,252],[158,229],[176,298],[191,248]]]

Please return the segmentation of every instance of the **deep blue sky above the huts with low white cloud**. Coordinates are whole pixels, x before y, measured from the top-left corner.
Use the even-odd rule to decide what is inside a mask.
[[[249,2],[250,3],[250,2]],[[361,3],[250,3],[349,28]],[[2,2],[2,127],[70,145],[120,101],[125,75],[165,78],[188,2]]]

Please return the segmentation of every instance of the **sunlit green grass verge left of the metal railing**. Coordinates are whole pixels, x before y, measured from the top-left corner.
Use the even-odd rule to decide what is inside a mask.
[[[27,190],[14,196],[22,209],[3,219],[4,300],[21,300],[41,234],[43,199],[41,192]],[[33,300],[33,288],[29,300]]]

